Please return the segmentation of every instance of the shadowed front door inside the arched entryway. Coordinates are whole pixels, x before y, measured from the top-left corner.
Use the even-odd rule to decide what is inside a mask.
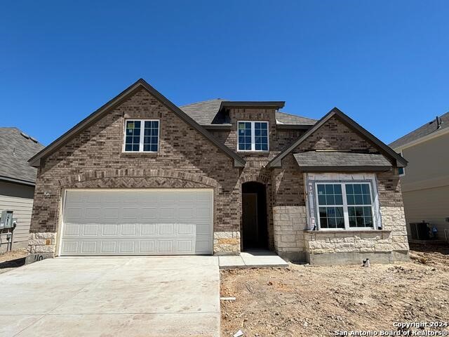
[[[243,193],[242,201],[243,246],[244,248],[256,247],[259,242],[257,193]]]

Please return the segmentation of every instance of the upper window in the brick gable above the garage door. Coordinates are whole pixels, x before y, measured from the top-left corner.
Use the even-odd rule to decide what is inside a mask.
[[[154,119],[126,119],[124,152],[158,152],[159,121]]]

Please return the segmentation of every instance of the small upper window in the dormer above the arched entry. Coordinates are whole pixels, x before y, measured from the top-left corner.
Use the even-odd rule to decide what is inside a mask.
[[[268,151],[268,122],[239,121],[237,122],[239,151]]]

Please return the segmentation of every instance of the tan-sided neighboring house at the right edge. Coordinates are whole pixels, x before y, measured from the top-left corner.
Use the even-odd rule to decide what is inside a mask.
[[[409,162],[401,169],[408,235],[410,223],[435,226],[436,237],[449,235],[449,112],[390,144]]]

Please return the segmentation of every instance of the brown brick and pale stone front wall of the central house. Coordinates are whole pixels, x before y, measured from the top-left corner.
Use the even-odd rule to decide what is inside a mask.
[[[158,153],[124,153],[125,119],[159,119]],[[356,237],[351,232],[342,239],[335,234],[322,238],[306,228],[304,173],[293,154],[282,160],[282,167],[266,169],[267,163],[287,145],[302,136],[303,130],[276,128],[273,109],[230,109],[232,129],[212,131],[213,136],[246,159],[244,168],[234,167],[227,156],[201,133],[141,88],[104,117],[68,140],[48,157],[41,159],[36,189],[29,251],[55,253],[60,225],[61,195],[65,188],[212,188],[214,190],[213,251],[238,254],[241,250],[241,186],[262,183],[267,197],[268,245],[281,256],[304,260],[319,254],[332,241],[337,249],[361,252],[361,242],[388,239],[389,250],[406,253],[406,227],[403,220],[401,187],[396,171],[377,174],[385,232],[372,237]],[[269,121],[269,152],[238,152],[237,121]],[[366,150],[377,152],[372,144],[335,117],[315,131],[293,151]],[[388,237],[385,233],[389,233]],[[323,244],[321,241],[323,239]],[[340,245],[341,244],[341,245]],[[339,246],[340,245],[340,246]],[[357,248],[355,248],[357,246]],[[374,246],[376,247],[376,246]],[[328,252],[326,250],[326,252]]]

